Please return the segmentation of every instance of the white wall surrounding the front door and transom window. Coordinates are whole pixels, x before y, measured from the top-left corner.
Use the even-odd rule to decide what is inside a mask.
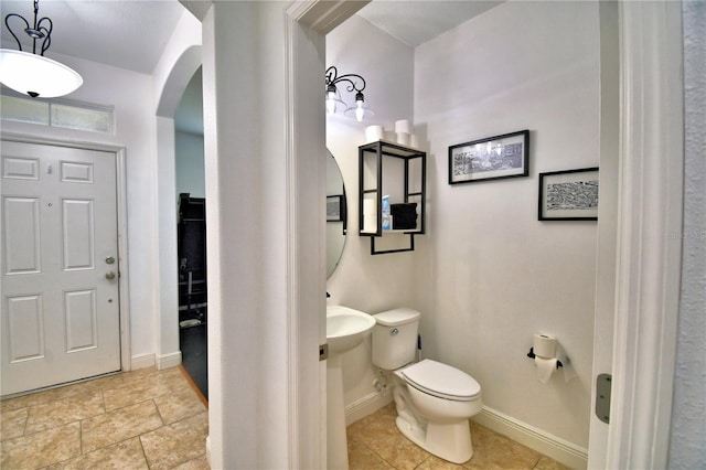
[[[60,140],[96,142],[126,148],[127,214],[130,268],[131,356],[156,349],[156,125],[150,75],[60,56],[77,71],[84,84],[68,99],[115,106],[115,135],[2,122],[2,130]]]

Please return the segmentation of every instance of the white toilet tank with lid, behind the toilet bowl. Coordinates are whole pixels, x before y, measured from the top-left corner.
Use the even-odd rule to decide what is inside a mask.
[[[394,371],[415,360],[420,313],[399,308],[373,316],[373,364]]]

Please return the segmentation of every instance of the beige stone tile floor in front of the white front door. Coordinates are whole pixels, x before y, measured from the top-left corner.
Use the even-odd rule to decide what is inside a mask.
[[[179,367],[0,403],[0,468],[208,469],[206,407]]]

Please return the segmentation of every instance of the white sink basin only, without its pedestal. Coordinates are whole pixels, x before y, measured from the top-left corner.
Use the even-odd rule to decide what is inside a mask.
[[[344,353],[371,334],[375,319],[360,310],[327,306],[327,342],[330,353]]]

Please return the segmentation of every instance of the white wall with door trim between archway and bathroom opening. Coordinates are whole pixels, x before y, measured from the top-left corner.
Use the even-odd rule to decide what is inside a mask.
[[[288,7],[299,4],[214,2],[203,20],[213,468],[321,468],[325,449],[325,137],[313,86],[324,43]]]

